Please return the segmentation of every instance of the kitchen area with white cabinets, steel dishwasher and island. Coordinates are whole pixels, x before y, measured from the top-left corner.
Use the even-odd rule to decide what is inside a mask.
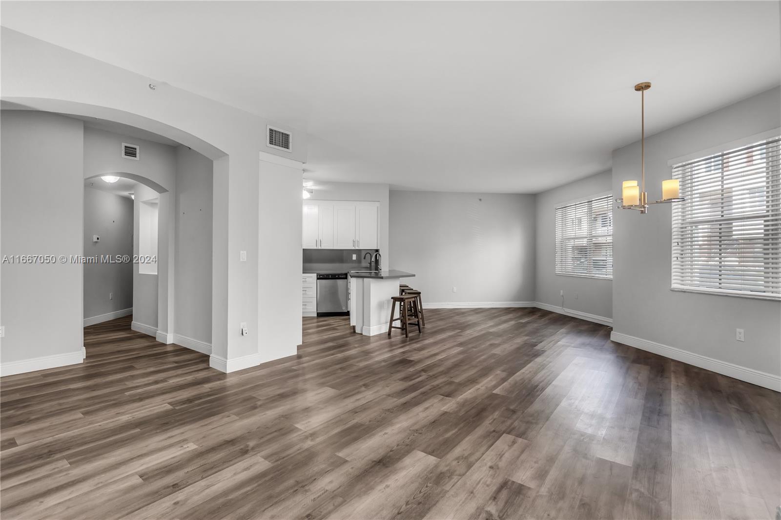
[[[349,316],[356,333],[387,333],[391,298],[415,276],[387,269],[388,185],[305,181],[303,198],[302,316]]]

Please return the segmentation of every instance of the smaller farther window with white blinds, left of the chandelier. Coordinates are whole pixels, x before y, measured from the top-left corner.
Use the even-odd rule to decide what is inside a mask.
[[[556,274],[612,279],[612,195],[556,208]]]

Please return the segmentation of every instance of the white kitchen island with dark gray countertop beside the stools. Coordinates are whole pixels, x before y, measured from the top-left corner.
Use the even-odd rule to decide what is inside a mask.
[[[415,276],[412,272],[351,271],[350,325],[364,336],[387,333],[391,319],[391,297],[398,296],[401,278]]]

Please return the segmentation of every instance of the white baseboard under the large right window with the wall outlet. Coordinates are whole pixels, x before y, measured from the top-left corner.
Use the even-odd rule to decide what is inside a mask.
[[[676,361],[694,365],[701,369],[717,372],[723,376],[733,377],[745,381],[746,383],[764,386],[770,390],[781,392],[781,376],[774,376],[767,372],[748,369],[747,367],[734,365],[733,363],[722,362],[719,359],[708,358],[708,356],[695,354],[694,352],[684,351],[680,348],[670,347],[669,345],[663,345],[661,343],[656,343],[655,341],[644,340],[639,337],[629,336],[628,334],[617,333],[615,331],[610,334],[610,339],[616,343],[629,345],[629,347],[639,348],[643,351],[653,352],[654,354],[659,354],[665,358],[675,359]]]

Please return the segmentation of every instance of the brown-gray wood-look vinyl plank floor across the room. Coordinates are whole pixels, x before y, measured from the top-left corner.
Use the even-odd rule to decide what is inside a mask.
[[[774,518],[781,394],[536,308],[305,318],[223,374],[130,330],[0,379],[2,518]]]

